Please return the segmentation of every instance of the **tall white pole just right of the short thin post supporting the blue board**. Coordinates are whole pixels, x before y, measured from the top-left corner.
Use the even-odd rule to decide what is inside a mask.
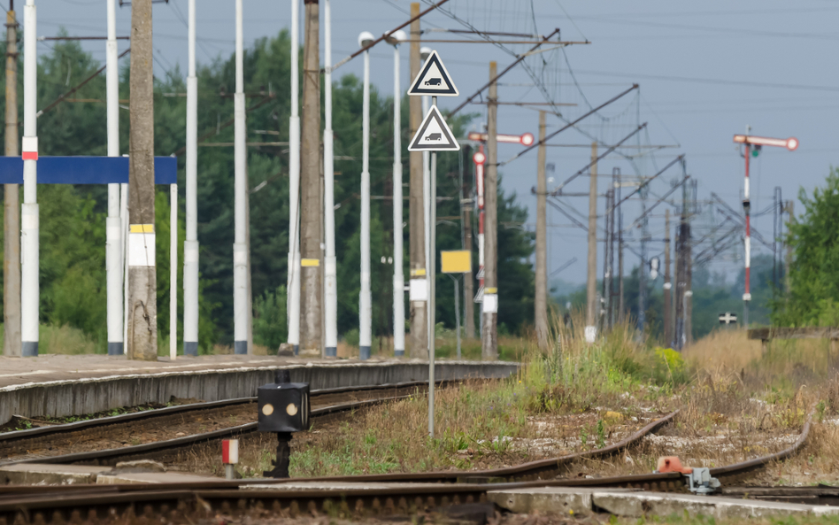
[[[183,355],[198,355],[198,79],[196,0],[189,0],[187,70],[187,238],[183,242]]]

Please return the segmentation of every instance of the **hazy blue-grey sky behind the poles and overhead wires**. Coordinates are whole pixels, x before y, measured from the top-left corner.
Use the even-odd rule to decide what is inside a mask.
[[[35,3],[39,6],[38,35],[55,35],[60,27],[65,27],[70,35],[106,33],[105,0],[36,0]],[[3,1],[3,4],[5,7],[8,3]],[[23,0],[18,4],[16,7],[21,11]],[[197,4],[199,63],[227,58],[234,50],[234,1],[197,0]],[[512,32],[531,32],[535,27],[541,35],[559,27],[565,41],[589,40],[589,45],[567,47],[564,56],[558,51],[544,55],[550,60],[548,68],[553,72],[553,76],[548,75],[553,80],[544,85],[548,96],[554,102],[578,104],[563,108],[566,118],[587,111],[587,103],[601,104],[637,82],[641,85],[640,99],[635,95],[625,97],[604,110],[604,119],[589,120],[583,129],[606,143],[613,143],[639,122],[648,122],[647,130],[639,135],[642,144],[678,146],[659,150],[654,158],[650,155],[637,158],[638,172],[626,158],[610,156],[600,163],[600,174],[612,174],[612,168],[617,166],[623,174],[651,175],[657,166],[664,166],[674,156],[684,153],[688,173],[698,181],[699,199],[708,199],[714,191],[739,210],[742,209],[743,159],[732,143],[732,135],[743,133],[746,125],[750,125],[755,135],[796,136],[801,143],[797,151],[766,149],[753,163],[752,209],[761,210],[770,205],[775,186],[781,187],[784,198],[797,196],[799,188],[812,192],[835,164],[837,149],[833,141],[839,120],[839,104],[835,102],[839,96],[839,73],[833,58],[839,51],[839,35],[835,34],[839,4],[825,0],[795,3],[713,0],[702,4],[655,0],[632,3],[533,0],[532,4],[533,12],[523,0],[450,0],[450,10],[459,20],[435,13],[429,15],[423,27],[462,29],[468,24],[483,30]],[[409,5],[406,0],[333,0],[334,60],[358,49],[360,31],[381,35],[403,22]],[[157,74],[175,65],[181,65],[181,71],[186,71],[186,13],[187,0],[169,0],[168,4],[154,7]],[[118,8],[117,14],[119,35],[128,35],[130,8]],[[276,35],[289,27],[289,19],[288,1],[244,0],[245,45],[262,36]],[[427,35],[439,39],[463,36]],[[42,42],[40,52],[48,51],[48,45],[49,42]],[[120,50],[127,45],[120,42]],[[488,44],[428,45],[438,50],[461,94],[458,98],[442,99],[443,108],[453,108],[487,81],[489,60],[496,60],[501,70],[513,59],[509,53]],[[104,42],[86,42],[85,48],[104,61]],[[409,80],[407,46],[403,48],[405,86]],[[381,44],[371,55],[374,86],[382,93],[391,94],[392,48]],[[360,59],[354,60],[335,74],[358,74],[361,66]],[[499,98],[511,102],[544,101],[540,89],[522,68],[504,77]],[[484,109],[481,105],[470,106],[473,112]],[[532,109],[502,106],[498,130],[536,134],[537,119]],[[480,124],[482,120],[477,121]],[[549,117],[549,131],[560,125],[558,118]],[[551,142],[585,145],[590,140],[570,130]],[[520,146],[502,144],[499,159],[510,158],[520,149]],[[627,155],[636,152],[625,151]],[[550,148],[548,162],[556,166],[556,171],[549,174],[554,179],[549,187],[585,166],[589,154],[588,148]],[[535,157],[532,151],[501,170],[504,189],[517,191],[520,202],[530,210],[527,225],[530,229],[535,217],[535,197],[530,194],[535,186]],[[651,194],[663,195],[670,181],[679,178],[681,168],[671,168],[653,183]],[[600,191],[605,191],[608,184],[603,177]],[[587,191],[588,185],[589,179],[580,177],[566,191]],[[652,195],[650,204],[656,200]],[[566,202],[582,214],[587,213],[588,199],[571,198]],[[602,212],[603,199],[599,199],[598,205]],[[637,202],[627,205],[625,224],[635,219],[639,209]],[[797,211],[800,210],[801,205],[797,205]],[[654,239],[663,236],[663,214],[664,205],[661,205],[650,218],[650,235]],[[578,262],[559,276],[567,281],[583,282],[586,234],[579,228],[570,228],[571,222],[558,212],[551,212],[549,219],[550,268],[558,268],[566,260],[577,257]],[[754,224],[771,238],[771,215],[757,218]],[[661,243],[652,243],[650,255],[658,254],[661,249]],[[766,252],[759,244],[754,251]],[[728,257],[720,257],[712,267],[730,272],[735,264],[742,264],[732,259],[741,252],[742,248]],[[637,260],[637,256],[627,254],[627,271]],[[602,268],[602,262],[598,262],[598,268]]]

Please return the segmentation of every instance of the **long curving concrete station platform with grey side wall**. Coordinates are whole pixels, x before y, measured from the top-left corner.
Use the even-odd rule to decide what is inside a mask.
[[[518,363],[437,361],[437,379],[500,378]],[[312,390],[426,381],[428,363],[419,359],[303,359],[273,356],[200,356],[170,361],[130,361],[104,355],[0,357],[0,424],[12,414],[61,417],[171,398],[204,401],[248,398],[273,382],[274,371],[288,368],[293,382]]]

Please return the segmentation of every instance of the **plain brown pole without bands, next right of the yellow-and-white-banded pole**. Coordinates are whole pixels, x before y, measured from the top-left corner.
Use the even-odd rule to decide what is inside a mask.
[[[536,158],[536,297],[535,328],[539,348],[548,347],[548,181],[545,161],[548,147],[545,138],[545,112],[539,112],[539,153]]]

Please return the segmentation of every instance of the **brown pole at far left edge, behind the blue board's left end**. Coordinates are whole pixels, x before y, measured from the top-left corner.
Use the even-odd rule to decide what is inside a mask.
[[[14,0],[6,12],[6,157],[18,151],[18,20]],[[4,184],[3,355],[20,350],[20,197],[17,184]]]

